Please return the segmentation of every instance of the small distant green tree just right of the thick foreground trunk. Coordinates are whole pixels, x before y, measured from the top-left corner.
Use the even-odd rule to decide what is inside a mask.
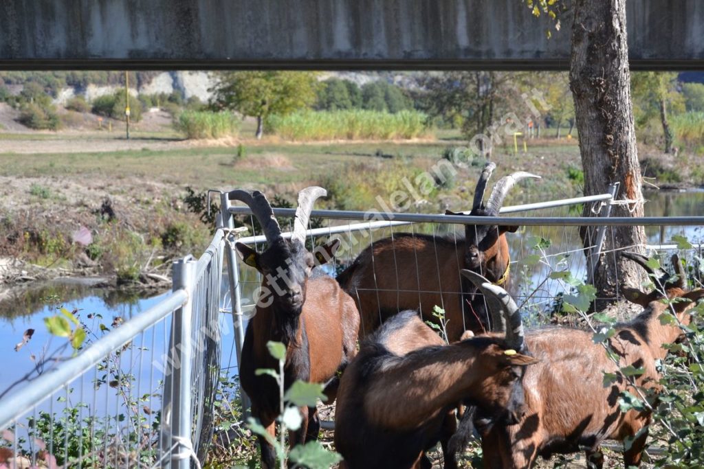
[[[647,120],[659,113],[665,153],[672,153],[674,134],[670,129],[668,112],[684,109],[684,97],[677,91],[677,73],[636,72],[631,79],[631,89],[636,105]]]

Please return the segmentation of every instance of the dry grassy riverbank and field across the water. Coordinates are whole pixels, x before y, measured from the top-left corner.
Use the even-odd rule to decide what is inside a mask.
[[[11,148],[2,145],[8,141]],[[125,143],[104,134],[0,133],[0,290],[63,276],[100,276],[114,288],[158,288],[169,280],[171,259],[197,256],[208,245],[208,189],[258,188],[293,204],[300,188],[320,185],[329,193],[320,207],[384,210],[377,195],[388,205],[391,193],[406,190],[404,181],[434,174],[448,148],[463,141],[448,134],[435,141],[194,144],[135,134]],[[68,153],[69,147],[80,151]],[[494,181],[514,171],[543,176],[511,191],[506,205],[582,194],[574,139],[529,141],[527,153],[517,154],[506,143],[492,160]],[[484,162],[472,158],[436,178],[436,187],[409,210],[466,210]],[[648,171],[659,177],[653,165]],[[696,186],[660,179],[653,185]]]

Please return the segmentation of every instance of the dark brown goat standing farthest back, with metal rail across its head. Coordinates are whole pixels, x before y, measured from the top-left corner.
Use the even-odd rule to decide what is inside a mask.
[[[514,184],[539,178],[527,172],[505,176],[484,205],[484,191],[494,168],[493,162],[484,167],[470,216],[497,217]],[[372,243],[337,278],[357,302],[362,316],[360,337],[404,309],[420,309],[424,319],[437,321],[432,316],[436,305],[445,309],[451,342],[459,340],[465,330],[491,330],[484,301],[474,294],[476,288],[463,279],[460,270],[479,272],[498,285],[508,285],[510,255],[504,233],[516,229],[467,225],[465,238],[400,233]]]

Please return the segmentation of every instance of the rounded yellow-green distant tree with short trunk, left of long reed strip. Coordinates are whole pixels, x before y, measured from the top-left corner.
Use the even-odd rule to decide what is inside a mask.
[[[312,72],[222,72],[211,90],[212,105],[256,117],[256,137],[261,139],[269,115],[286,115],[312,105],[317,86]]]

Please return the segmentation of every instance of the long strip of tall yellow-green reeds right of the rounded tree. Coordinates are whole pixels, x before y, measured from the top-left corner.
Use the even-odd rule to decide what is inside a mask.
[[[371,110],[303,111],[270,116],[270,131],[289,140],[413,139],[428,133],[427,118],[417,111],[390,114]]]

